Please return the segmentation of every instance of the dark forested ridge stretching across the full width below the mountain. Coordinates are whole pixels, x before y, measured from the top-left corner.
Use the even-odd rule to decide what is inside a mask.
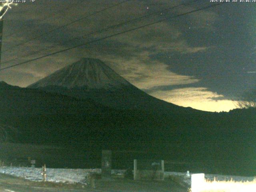
[[[178,160],[233,163],[255,172],[256,109],[209,113],[115,109],[37,89],[0,83],[1,124],[18,130],[14,142],[86,150],[143,150]],[[164,158],[167,158],[165,156]],[[221,163],[220,163],[221,162]],[[230,169],[229,169],[230,170]]]

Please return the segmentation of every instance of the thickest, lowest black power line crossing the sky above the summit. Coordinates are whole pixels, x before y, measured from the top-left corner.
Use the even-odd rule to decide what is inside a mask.
[[[190,13],[198,12],[198,11],[200,11],[200,10],[212,8],[212,7],[214,7],[214,6],[218,6],[218,5],[221,5],[221,4],[223,4],[223,3],[212,4],[212,5],[206,6],[206,7],[204,7],[204,8],[199,8],[199,9],[196,9],[196,10],[192,10],[192,11],[190,11],[190,12],[178,14],[178,15],[173,16],[173,17],[171,17],[171,18],[177,18],[177,17],[184,16],[184,15],[187,15],[187,14],[190,14]],[[113,36],[117,36],[117,35],[120,35],[120,34],[124,34],[124,33],[127,33],[127,32],[131,32],[131,31],[140,29],[140,28],[144,28],[144,27],[146,27],[146,26],[150,26],[150,25],[153,25],[153,24],[156,24],[156,23],[160,23],[160,22],[162,22],[162,21],[164,21],[164,20],[166,20],[166,19],[158,20],[158,21],[152,22],[152,23],[150,23],[150,24],[145,24],[145,25],[142,25],[142,26],[139,26],[139,27],[136,27],[136,28],[132,28],[132,29],[123,31],[123,32],[119,32],[119,33],[116,33],[116,34],[112,34],[112,35],[110,35],[110,36],[106,36],[106,37],[103,37],[103,38],[99,38],[99,39],[96,39],[96,40],[92,40],[92,41],[90,41],[90,42],[86,42],[85,44],[80,44],[80,45],[76,45],[76,46],[73,46],[73,47],[70,47],[70,48],[66,48],[66,49],[63,49],[63,50],[60,50],[60,51],[57,51],[57,52],[53,52],[53,53],[50,53],[50,54],[47,54],[47,55],[44,55],[44,56],[41,56],[41,57],[38,57],[38,58],[34,58],[34,59],[31,59],[31,60],[28,60],[28,61],[25,61],[25,62],[21,62],[21,63],[15,64],[15,65],[12,65],[12,66],[8,66],[8,67],[5,67],[5,68],[2,68],[2,69],[0,69],[0,71],[5,70],[5,69],[8,69],[8,68],[12,68],[12,67],[14,67],[14,66],[26,64],[26,63],[28,63],[28,62],[32,62],[32,61],[35,61],[35,60],[39,60],[39,59],[41,59],[41,58],[45,58],[45,57],[48,57],[48,56],[52,56],[52,55],[55,55],[55,54],[58,54],[58,53],[61,53],[61,52],[65,52],[65,51],[67,51],[67,50],[71,50],[71,49],[74,49],[74,48],[78,48],[78,47],[81,47],[81,46],[85,46],[85,45],[90,44],[90,43],[98,42],[98,41],[100,41],[100,40],[104,40],[104,39],[107,39],[107,38],[111,38],[111,37],[113,37]]]

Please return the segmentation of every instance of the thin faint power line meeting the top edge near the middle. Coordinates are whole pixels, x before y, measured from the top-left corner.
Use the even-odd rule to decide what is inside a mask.
[[[30,42],[30,41],[32,41],[32,40],[35,40],[35,39],[37,39],[37,38],[40,38],[40,37],[43,36],[43,35],[49,34],[49,33],[51,33],[51,32],[54,32],[54,31],[56,31],[56,30],[59,30],[59,29],[61,29],[61,28],[66,27],[66,26],[69,26],[69,25],[71,25],[71,24],[74,24],[74,23],[76,23],[76,22],[79,22],[80,20],[84,20],[84,19],[86,19],[86,18],[88,18],[88,17],[90,17],[90,16],[93,16],[93,15],[95,15],[95,14],[98,14],[98,13],[100,13],[100,12],[103,12],[103,11],[105,11],[105,10],[108,10],[108,9],[110,9],[110,8],[119,6],[120,4],[123,4],[123,3],[128,2],[128,1],[130,1],[130,0],[124,0],[124,1],[122,1],[122,2],[120,2],[120,3],[114,4],[114,5],[109,6],[109,7],[107,7],[107,8],[104,8],[104,9],[101,9],[101,10],[98,10],[98,11],[95,11],[95,12],[93,12],[92,14],[89,14],[89,15],[87,15],[87,16],[85,16],[85,17],[82,17],[82,18],[79,18],[79,19],[77,19],[77,20],[74,20],[74,21],[72,21],[72,22],[70,22],[70,23],[68,23],[68,24],[59,26],[59,27],[57,27],[57,28],[54,28],[54,29],[52,29],[52,30],[49,30],[48,32],[44,32],[44,33],[42,33],[42,34],[40,34],[40,35],[38,35],[38,36],[35,36],[34,38],[31,38],[31,39],[29,39],[29,40],[27,40],[27,41],[24,41],[24,42],[20,43],[20,44],[17,44],[17,45],[15,45],[15,46],[12,46],[12,47],[10,47],[10,48],[8,48],[8,49],[2,51],[2,53],[6,52],[6,51],[8,51],[8,50],[10,50],[10,49],[12,49],[12,48],[15,48],[15,47],[24,45],[24,44],[26,44],[26,43],[28,43],[28,42]]]

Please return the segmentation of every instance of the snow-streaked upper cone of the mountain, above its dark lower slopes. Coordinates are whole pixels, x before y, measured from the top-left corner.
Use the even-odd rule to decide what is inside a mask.
[[[108,89],[129,84],[101,60],[82,58],[78,62],[57,70],[29,87],[62,86],[66,88]]]

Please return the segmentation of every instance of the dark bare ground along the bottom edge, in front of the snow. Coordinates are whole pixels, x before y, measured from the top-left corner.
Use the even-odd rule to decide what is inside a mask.
[[[187,188],[166,179],[164,181],[133,181],[124,178],[98,179],[96,188],[82,184],[32,182],[0,174],[0,192],[187,192]]]

